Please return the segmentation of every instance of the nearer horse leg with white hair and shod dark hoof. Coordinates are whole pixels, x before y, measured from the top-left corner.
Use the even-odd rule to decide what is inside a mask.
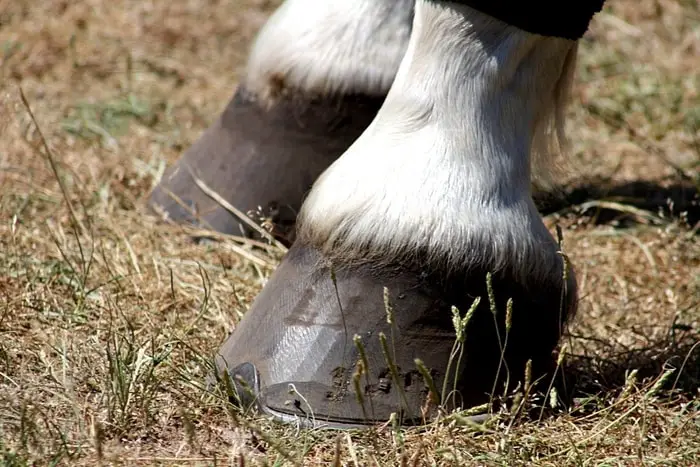
[[[538,2],[498,3],[417,1],[377,117],[316,181],[219,350],[242,404],[312,425],[419,423],[426,371],[437,399],[456,388],[469,407],[522,382],[528,361],[532,381],[551,368],[576,280],[533,203],[532,151],[561,136],[601,1],[556,24],[538,23]]]

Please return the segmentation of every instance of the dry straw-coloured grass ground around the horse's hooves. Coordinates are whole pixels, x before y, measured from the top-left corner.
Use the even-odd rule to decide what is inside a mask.
[[[583,41],[566,199],[545,207],[581,284],[577,405],[341,434],[204,387],[280,254],[143,214],[274,3],[0,0],[0,465],[696,465],[697,3],[612,0]]]

